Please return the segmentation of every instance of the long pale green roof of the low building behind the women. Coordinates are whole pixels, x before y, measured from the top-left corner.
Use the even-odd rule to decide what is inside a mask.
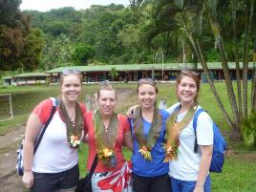
[[[53,70],[46,72],[46,74],[54,74],[60,73],[63,70],[73,69],[79,70],[81,72],[109,72],[113,68],[116,68],[118,72],[127,72],[127,71],[147,71],[147,70],[182,70],[182,69],[193,69],[194,64],[192,63],[154,63],[154,64],[120,64],[120,65],[88,65],[88,66],[71,66],[71,67],[59,67]],[[219,70],[223,69],[221,62],[209,62],[207,63],[208,69],[212,70]],[[229,69],[235,69],[235,63],[229,62],[228,63]],[[243,63],[240,63],[240,67],[242,69]],[[249,69],[252,69],[253,63],[249,63]],[[199,63],[198,69],[202,70],[202,66]]]

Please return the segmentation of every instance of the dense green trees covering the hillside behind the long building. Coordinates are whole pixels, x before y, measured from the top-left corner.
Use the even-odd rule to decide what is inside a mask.
[[[161,62],[162,54],[164,62],[183,59],[196,62],[197,56],[179,24],[177,12],[181,8],[177,2],[130,1],[129,8],[111,4],[80,11],[62,8],[21,12],[21,0],[0,0],[0,70],[48,70],[88,63],[152,63]],[[201,2],[194,2],[195,11]],[[229,31],[233,22],[232,9],[237,10],[237,50],[233,49],[233,31]],[[228,59],[234,61],[236,55],[243,57],[245,2],[234,5],[225,2],[220,11],[225,51]],[[200,36],[205,58],[219,61],[210,25],[206,17],[200,17],[201,11],[197,12],[193,20],[203,25],[195,25],[194,30]],[[252,32],[252,39],[255,39],[255,29]],[[252,40],[248,46],[251,53]]]

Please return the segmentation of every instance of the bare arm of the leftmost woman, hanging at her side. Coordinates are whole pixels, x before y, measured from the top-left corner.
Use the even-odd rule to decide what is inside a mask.
[[[32,187],[33,176],[32,176],[32,158],[33,158],[33,147],[34,141],[39,135],[39,132],[43,124],[41,123],[39,117],[32,114],[27,122],[25,139],[23,143],[24,147],[24,175],[22,181],[26,187]]]

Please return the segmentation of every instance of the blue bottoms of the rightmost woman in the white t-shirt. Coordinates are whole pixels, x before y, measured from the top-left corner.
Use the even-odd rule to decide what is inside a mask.
[[[181,181],[175,178],[171,178],[172,191],[173,192],[193,192],[197,181]],[[211,191],[211,178],[207,176],[203,185],[204,192]]]

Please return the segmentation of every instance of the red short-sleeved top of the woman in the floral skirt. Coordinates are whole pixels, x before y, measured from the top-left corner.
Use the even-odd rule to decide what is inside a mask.
[[[89,144],[89,157],[87,160],[87,169],[90,170],[93,161],[96,156],[96,138],[95,138],[95,131],[94,131],[94,124],[93,124],[93,114],[92,112],[88,112],[84,116],[85,120],[85,133],[88,133],[88,144]],[[130,125],[128,122],[128,118],[124,117],[122,115],[118,115],[118,136],[117,136],[117,142],[114,147],[114,151],[117,158],[117,166],[114,168],[106,167],[101,160],[98,160],[97,166],[96,166],[96,172],[108,172],[108,171],[114,171],[120,169],[125,159],[122,155],[121,148],[124,143],[124,133],[130,131]]]

